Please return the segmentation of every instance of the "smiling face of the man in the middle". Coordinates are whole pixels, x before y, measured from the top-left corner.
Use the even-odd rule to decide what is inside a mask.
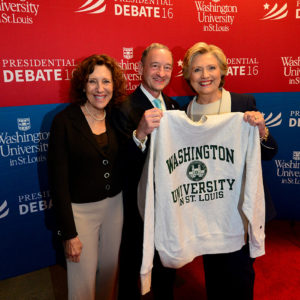
[[[171,79],[173,59],[167,49],[153,48],[142,65],[143,86],[155,98]]]

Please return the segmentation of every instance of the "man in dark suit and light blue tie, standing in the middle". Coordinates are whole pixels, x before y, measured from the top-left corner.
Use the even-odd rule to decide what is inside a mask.
[[[154,43],[147,47],[142,54],[139,70],[141,85],[113,114],[115,126],[125,137],[127,152],[119,299],[141,299],[139,275],[143,254],[143,221],[138,212],[137,186],[146,158],[149,135],[159,126],[164,110],[179,108],[177,102],[162,93],[171,79],[172,67],[172,54],[166,46]],[[156,253],[152,273],[154,299],[173,299],[174,280],[175,270],[163,267]]]

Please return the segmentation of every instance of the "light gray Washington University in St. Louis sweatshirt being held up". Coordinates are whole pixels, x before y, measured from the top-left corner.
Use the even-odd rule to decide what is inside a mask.
[[[190,120],[166,111],[151,134],[138,188],[144,219],[142,294],[151,286],[154,247],[164,266],[180,268],[203,254],[245,245],[264,250],[264,190],[257,127],[243,113]]]

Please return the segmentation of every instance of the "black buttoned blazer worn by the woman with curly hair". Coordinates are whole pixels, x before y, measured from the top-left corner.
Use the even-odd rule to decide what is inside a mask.
[[[58,113],[50,130],[48,169],[63,239],[77,235],[71,203],[95,202],[121,191],[118,140],[106,117],[107,147],[101,148],[79,105]]]

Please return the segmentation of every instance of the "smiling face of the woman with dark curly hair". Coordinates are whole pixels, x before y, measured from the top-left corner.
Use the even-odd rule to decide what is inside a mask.
[[[87,105],[93,110],[102,111],[113,95],[111,71],[105,65],[96,65],[86,84]]]

